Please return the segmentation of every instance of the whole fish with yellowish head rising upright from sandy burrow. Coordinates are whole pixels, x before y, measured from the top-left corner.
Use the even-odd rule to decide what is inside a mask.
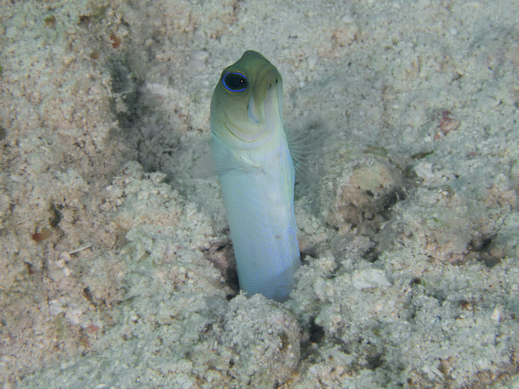
[[[222,72],[211,133],[240,288],[285,301],[301,266],[294,165],[283,129],[283,81],[262,54],[245,51]]]

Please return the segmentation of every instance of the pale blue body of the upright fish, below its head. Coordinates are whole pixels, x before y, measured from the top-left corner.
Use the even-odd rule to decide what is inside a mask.
[[[235,164],[219,174],[240,288],[248,296],[261,293],[285,301],[301,260],[294,217],[294,165],[284,133],[275,143],[266,147],[268,151],[264,147],[236,156],[213,133],[213,148],[221,148],[215,154]]]

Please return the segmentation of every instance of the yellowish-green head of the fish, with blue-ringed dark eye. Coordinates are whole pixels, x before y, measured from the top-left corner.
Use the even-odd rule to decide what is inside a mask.
[[[262,54],[247,50],[222,72],[211,99],[211,131],[243,150],[284,135],[283,79]]]

